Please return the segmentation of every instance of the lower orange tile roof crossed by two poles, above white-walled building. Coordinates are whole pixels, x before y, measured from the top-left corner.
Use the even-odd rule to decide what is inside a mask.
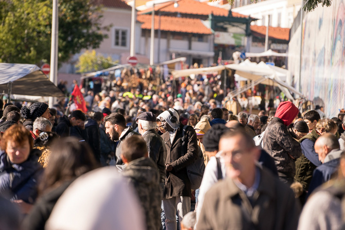
[[[151,30],[151,15],[138,15],[141,29]],[[158,30],[159,16],[155,15],[155,30]],[[161,16],[161,30],[181,33],[212,34],[200,19]]]

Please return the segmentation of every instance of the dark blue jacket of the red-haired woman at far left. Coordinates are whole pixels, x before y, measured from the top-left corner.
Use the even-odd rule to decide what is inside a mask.
[[[12,164],[5,152],[0,153],[0,195],[11,200],[22,199],[34,203],[37,197],[37,181],[43,173],[38,156],[30,153],[22,164]]]

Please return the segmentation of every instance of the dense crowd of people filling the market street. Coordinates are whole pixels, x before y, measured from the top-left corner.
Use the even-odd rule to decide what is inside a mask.
[[[345,114],[264,97],[248,114],[220,86],[0,104],[0,229],[341,229]]]

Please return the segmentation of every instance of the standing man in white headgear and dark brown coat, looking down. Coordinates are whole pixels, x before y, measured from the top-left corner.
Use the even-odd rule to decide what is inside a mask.
[[[176,110],[170,108],[161,113],[157,119],[160,120],[160,128],[166,131],[162,135],[167,147],[167,177],[163,194],[165,224],[167,230],[176,230],[176,209],[179,220],[190,211],[192,194],[186,167],[197,159],[199,146],[196,132],[192,127],[188,127],[185,131],[186,148],[182,150],[183,125],[179,122]]]

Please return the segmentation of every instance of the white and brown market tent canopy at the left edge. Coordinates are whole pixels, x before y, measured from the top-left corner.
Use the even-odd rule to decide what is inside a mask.
[[[0,63],[0,93],[40,97],[64,97],[36,65]]]

